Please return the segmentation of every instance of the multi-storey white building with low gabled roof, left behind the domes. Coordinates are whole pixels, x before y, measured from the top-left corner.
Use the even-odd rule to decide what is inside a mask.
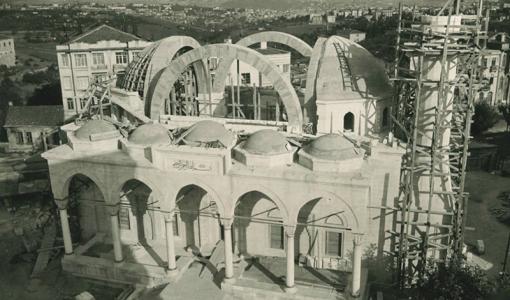
[[[128,63],[150,45],[135,35],[101,25],[57,46],[65,118],[81,112],[90,82],[122,76]]]

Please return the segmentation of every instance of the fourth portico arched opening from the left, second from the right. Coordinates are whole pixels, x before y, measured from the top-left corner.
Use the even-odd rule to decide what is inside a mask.
[[[278,206],[261,192],[248,192],[237,201],[234,218],[234,251],[248,262],[243,277],[283,284],[286,239]]]

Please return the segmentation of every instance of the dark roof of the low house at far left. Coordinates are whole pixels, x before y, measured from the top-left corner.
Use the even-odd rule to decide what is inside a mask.
[[[16,126],[60,126],[64,123],[64,108],[61,105],[10,106],[5,118],[5,127]]]

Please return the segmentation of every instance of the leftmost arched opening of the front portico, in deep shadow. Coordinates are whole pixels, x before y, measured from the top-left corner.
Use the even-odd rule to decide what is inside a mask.
[[[69,226],[74,241],[87,241],[96,234],[110,236],[105,200],[97,184],[77,174],[69,182]]]

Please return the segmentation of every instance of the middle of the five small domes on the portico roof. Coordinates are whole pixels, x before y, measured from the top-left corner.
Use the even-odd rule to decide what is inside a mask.
[[[223,124],[204,120],[193,124],[184,137],[186,144],[200,146],[203,143],[220,142],[225,147],[232,145],[234,135]]]

